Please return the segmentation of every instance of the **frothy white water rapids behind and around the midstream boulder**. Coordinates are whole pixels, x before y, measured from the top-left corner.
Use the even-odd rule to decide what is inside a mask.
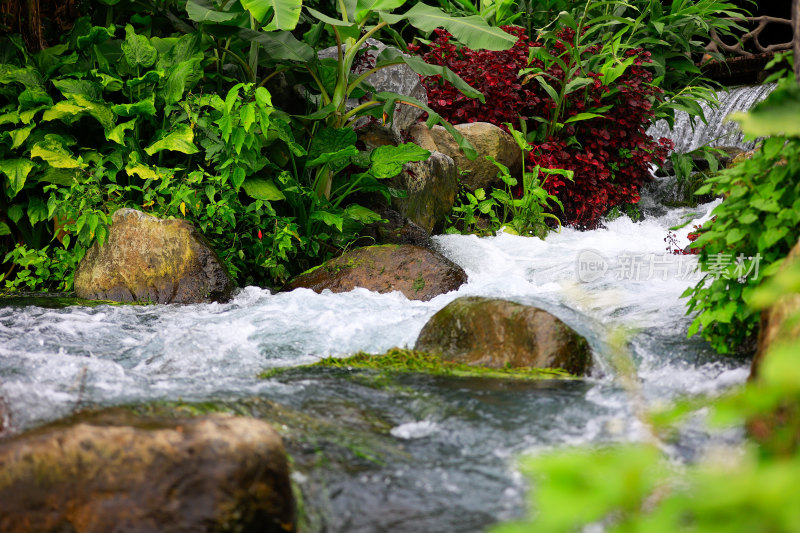
[[[698,208],[693,218],[699,222],[710,207]],[[437,237],[469,282],[430,302],[364,289],[270,294],[248,287],[227,304],[0,308],[0,391],[22,427],[64,416],[78,403],[269,394],[281,385],[259,380],[260,371],[412,347],[448,302],[483,295],[543,307],[585,335],[598,387],[613,380],[607,337],[625,327],[638,331],[631,345],[648,396],[714,392],[742,382],[747,372],[729,361],[698,364],[708,350],[684,339],[688,319],[679,296],[696,281],[682,279],[694,258],[668,255],[664,237],[686,216],[692,214],[674,210],[641,223],[623,217],[594,231],[565,228],[544,241],[505,234]],[[677,232],[681,246],[690,230]],[[607,270],[583,283],[578,261],[587,257],[605,260]],[[640,265],[636,272],[631,257]]]

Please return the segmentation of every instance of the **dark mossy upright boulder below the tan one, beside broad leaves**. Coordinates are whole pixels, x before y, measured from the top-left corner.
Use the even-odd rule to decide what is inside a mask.
[[[458,172],[451,158],[431,152],[425,161],[406,163],[391,185],[408,193],[392,198],[392,208],[428,233],[437,233],[456,201]]]

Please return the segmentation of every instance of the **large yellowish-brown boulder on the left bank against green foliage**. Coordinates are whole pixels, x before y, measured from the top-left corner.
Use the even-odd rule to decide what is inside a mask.
[[[96,300],[199,303],[228,300],[232,291],[225,267],[194,226],[135,209],[114,213],[105,245],[95,243],[75,272],[75,293]]]

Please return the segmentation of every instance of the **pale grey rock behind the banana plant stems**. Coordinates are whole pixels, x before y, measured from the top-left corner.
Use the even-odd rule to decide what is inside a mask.
[[[366,55],[369,56],[369,59],[368,61],[362,62],[362,64],[369,64],[369,66],[362,67],[360,69],[354,69],[356,73],[366,72],[369,68],[372,68],[375,65],[375,59],[387,48],[385,44],[376,39],[367,39],[363,47],[369,48],[366,51]],[[335,46],[332,46],[320,51],[318,57],[320,59],[335,59],[336,55],[337,49]],[[378,92],[402,94],[404,96],[416,98],[425,104],[428,103],[428,93],[425,90],[425,87],[422,85],[419,75],[411,70],[408,65],[393,65],[391,67],[381,69],[378,72],[370,74],[367,77],[366,82],[374,87]],[[358,104],[359,102],[357,99],[351,98],[347,102],[347,108],[353,109]],[[422,113],[423,111],[418,107],[400,104],[394,114],[394,122],[391,125],[393,136],[399,139],[400,132],[407,130],[412,124],[416,123],[417,120],[422,116]],[[356,122],[356,129],[365,125],[366,122],[366,119]]]

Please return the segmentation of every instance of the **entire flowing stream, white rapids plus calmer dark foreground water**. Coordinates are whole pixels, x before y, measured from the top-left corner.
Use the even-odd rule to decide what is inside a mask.
[[[718,394],[748,375],[742,361],[686,339],[680,294],[694,257],[670,255],[668,228],[709,217],[716,203],[546,240],[439,236],[469,282],[429,302],[399,293],[270,294],[242,289],[226,304],[0,307],[0,396],[14,427],[85,407],[218,402],[261,416],[287,438],[311,531],[483,531],[525,511],[522,453],[637,440],[641,407]],[[692,224],[677,230],[688,244]],[[484,295],[549,310],[589,340],[592,375],[522,382],[294,370],[328,355],[411,347],[454,298]],[[620,333],[622,332],[622,333]],[[612,338],[624,335],[638,390],[622,386]],[[294,427],[302,425],[298,437]],[[303,433],[303,432],[300,432]],[[685,425],[667,449],[692,460],[741,439]]]

